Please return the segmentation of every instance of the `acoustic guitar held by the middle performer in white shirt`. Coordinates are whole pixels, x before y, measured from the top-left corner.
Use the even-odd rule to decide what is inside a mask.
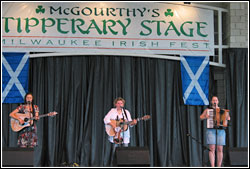
[[[137,118],[136,120],[140,121],[140,120],[148,120],[148,119],[150,119],[150,115],[145,115],[141,118]],[[121,127],[122,131],[126,131],[128,129],[128,125],[131,124],[132,122],[133,121],[123,121],[122,119],[110,120],[111,124],[115,125],[116,127]],[[105,125],[105,130],[109,136],[115,136],[117,133],[117,131],[115,131],[115,129],[111,125]]]

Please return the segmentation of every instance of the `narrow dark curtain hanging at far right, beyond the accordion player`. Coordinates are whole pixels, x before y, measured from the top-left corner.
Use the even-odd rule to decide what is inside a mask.
[[[227,108],[231,111],[230,147],[248,147],[248,49],[228,49],[226,68]]]

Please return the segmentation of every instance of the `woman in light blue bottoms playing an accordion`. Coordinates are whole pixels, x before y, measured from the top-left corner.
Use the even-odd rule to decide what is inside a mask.
[[[217,96],[213,96],[211,99],[212,107],[209,109],[205,109],[203,113],[200,115],[200,119],[208,119],[207,123],[211,122],[213,125],[211,127],[207,127],[206,137],[207,137],[207,144],[209,145],[209,161],[211,167],[215,166],[215,145],[217,145],[217,166],[221,167],[222,160],[223,160],[223,145],[226,145],[226,132],[225,127],[227,127],[227,120],[230,120],[229,110],[220,109],[218,106],[219,99]],[[209,112],[212,110],[211,115]],[[220,117],[224,119],[220,119]],[[218,119],[219,118],[219,119]],[[223,122],[222,122],[223,121]],[[224,122],[225,121],[225,122]],[[220,123],[222,124],[220,125]],[[209,126],[209,124],[207,125]],[[216,137],[217,136],[217,137]]]

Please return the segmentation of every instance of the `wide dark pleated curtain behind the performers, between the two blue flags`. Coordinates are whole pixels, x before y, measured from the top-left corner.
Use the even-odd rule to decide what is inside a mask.
[[[213,71],[210,67],[211,96],[216,94]],[[204,142],[205,123],[199,116],[206,106],[183,104],[179,61],[125,56],[34,58],[29,88],[40,114],[58,112],[37,122],[36,166],[65,162],[109,166],[111,144],[103,118],[119,96],[126,100],[132,118],[151,116],[131,128],[130,143],[149,148],[151,166],[202,166],[204,162],[202,146],[187,134]],[[16,146],[17,135],[9,127],[8,116],[16,106],[3,104],[3,147]],[[233,127],[240,127],[238,120]],[[232,140],[243,138],[233,134]]]

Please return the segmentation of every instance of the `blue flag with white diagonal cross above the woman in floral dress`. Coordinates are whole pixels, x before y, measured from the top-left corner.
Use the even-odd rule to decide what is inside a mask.
[[[28,92],[28,53],[2,53],[2,103],[23,103]]]

